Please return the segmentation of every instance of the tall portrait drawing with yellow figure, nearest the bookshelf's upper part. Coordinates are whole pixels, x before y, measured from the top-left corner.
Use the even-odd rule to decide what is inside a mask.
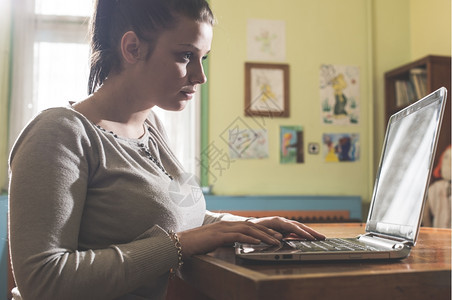
[[[332,125],[358,124],[359,68],[322,65],[320,67],[320,100],[322,122]]]

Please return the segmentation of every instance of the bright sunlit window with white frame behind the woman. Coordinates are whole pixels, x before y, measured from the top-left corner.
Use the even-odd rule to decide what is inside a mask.
[[[87,97],[92,0],[15,0],[14,5],[10,145],[39,111]],[[187,172],[199,176],[198,100],[184,112],[156,111],[176,156]]]

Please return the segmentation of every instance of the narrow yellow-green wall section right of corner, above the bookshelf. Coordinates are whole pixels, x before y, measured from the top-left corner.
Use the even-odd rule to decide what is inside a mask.
[[[427,55],[451,55],[450,0],[373,0],[374,153],[383,143],[384,72]]]

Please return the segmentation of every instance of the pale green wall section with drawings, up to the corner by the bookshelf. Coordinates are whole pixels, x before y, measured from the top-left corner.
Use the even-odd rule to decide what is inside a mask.
[[[236,160],[217,179],[215,194],[359,195],[371,190],[373,161],[371,110],[370,1],[237,1],[213,0],[218,18],[210,56],[210,143],[228,153],[221,134],[237,117],[244,117],[244,63],[247,62],[246,25],[249,18],[286,22],[286,63],[290,65],[290,118],[267,118],[268,159]],[[240,8],[240,9],[238,9]],[[361,116],[357,126],[326,126],[320,119],[319,68],[322,64],[360,68]],[[325,163],[322,154],[305,163],[279,163],[279,126],[301,125],[305,148],[322,143],[323,133],[359,133],[361,159],[355,163]],[[251,125],[252,126],[252,125]],[[323,149],[322,149],[323,150]],[[212,166],[211,166],[212,167]]]

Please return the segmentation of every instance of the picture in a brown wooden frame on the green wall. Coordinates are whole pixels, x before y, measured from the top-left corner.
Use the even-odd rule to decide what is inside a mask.
[[[289,65],[245,63],[245,115],[289,114]]]

